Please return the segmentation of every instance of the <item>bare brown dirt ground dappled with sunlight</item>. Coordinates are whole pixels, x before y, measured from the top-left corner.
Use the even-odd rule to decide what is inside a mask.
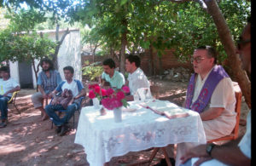
[[[160,100],[170,100],[181,106],[188,83],[156,79],[152,81],[160,87],[158,89]],[[61,137],[55,134],[55,127],[51,129],[50,120],[44,122],[40,120],[41,114],[33,108],[30,99],[34,92],[34,89],[21,89],[18,94],[16,105],[21,114],[14,106],[9,106],[8,126],[0,129],[0,166],[89,165],[84,148],[74,144],[75,129],[71,129],[67,135]],[[242,100],[241,119],[246,119],[247,112],[247,105]],[[76,112],[75,119],[77,125],[79,112]],[[70,123],[71,126],[72,124]],[[244,132],[245,126],[240,125],[240,135]],[[113,157],[110,165],[125,166],[143,161],[151,152],[152,150],[129,152],[122,157]],[[160,152],[154,158],[152,165],[158,163],[161,158],[163,155]]]

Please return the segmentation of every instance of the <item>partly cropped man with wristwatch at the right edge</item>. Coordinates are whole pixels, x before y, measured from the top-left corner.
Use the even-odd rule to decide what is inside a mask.
[[[242,31],[237,42],[237,54],[240,54],[242,67],[251,77],[251,20]],[[191,157],[199,157],[195,165],[251,165],[251,111],[247,114],[247,131],[236,140],[230,140],[224,145],[204,144],[189,149],[181,157],[184,165],[190,166]]]

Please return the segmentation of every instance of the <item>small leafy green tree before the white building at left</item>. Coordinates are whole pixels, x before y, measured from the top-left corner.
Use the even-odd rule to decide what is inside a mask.
[[[33,9],[21,9],[6,17],[9,19],[9,26],[0,31],[0,61],[31,62],[38,80],[39,66],[35,66],[35,60],[41,60],[55,50],[54,42],[35,31],[35,26],[45,21],[44,14]]]

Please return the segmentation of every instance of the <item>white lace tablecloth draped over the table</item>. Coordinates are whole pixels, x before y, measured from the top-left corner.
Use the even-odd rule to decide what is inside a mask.
[[[100,116],[93,106],[82,108],[75,143],[84,146],[90,166],[102,166],[112,157],[127,152],[139,152],[150,147],[163,147],[181,142],[206,143],[206,136],[197,112],[179,107],[169,101],[156,100],[146,103],[154,109],[169,114],[188,112],[188,117],[168,119],[129,102],[136,112],[123,112],[121,123],[114,123],[113,111]],[[142,104],[142,103],[141,103]]]

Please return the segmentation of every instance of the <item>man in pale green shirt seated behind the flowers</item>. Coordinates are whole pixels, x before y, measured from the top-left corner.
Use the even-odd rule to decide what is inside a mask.
[[[103,69],[101,77],[101,83],[104,86],[109,86],[113,89],[121,89],[125,84],[125,77],[121,72],[114,70],[115,63],[112,59],[107,59],[103,61]],[[106,83],[108,82],[109,85]]]

